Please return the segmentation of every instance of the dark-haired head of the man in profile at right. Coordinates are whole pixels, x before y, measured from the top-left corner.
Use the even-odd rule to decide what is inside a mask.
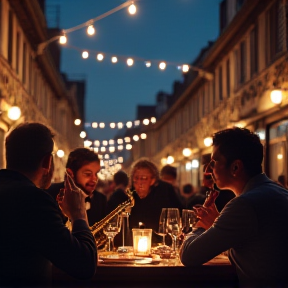
[[[220,189],[229,189],[235,180],[261,173],[262,160],[260,138],[248,129],[234,127],[214,134],[208,168],[212,169],[213,179]]]

